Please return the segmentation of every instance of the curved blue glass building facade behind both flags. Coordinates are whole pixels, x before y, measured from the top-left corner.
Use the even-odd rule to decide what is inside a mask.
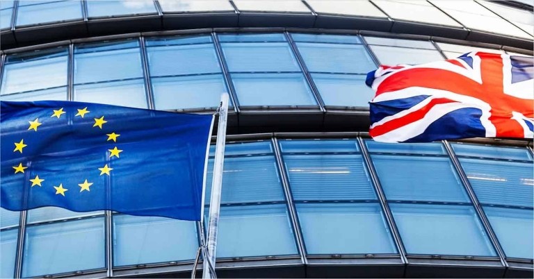
[[[528,278],[532,140],[373,142],[364,80],[532,56],[533,28],[522,1],[0,1],[0,99],[213,113],[229,92],[220,277]],[[203,229],[60,208],[0,221],[0,278],[188,276]]]

